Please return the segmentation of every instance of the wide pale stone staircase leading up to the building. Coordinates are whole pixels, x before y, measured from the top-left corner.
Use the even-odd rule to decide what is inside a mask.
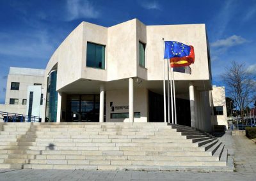
[[[210,134],[166,123],[0,123],[0,168],[232,171]]]

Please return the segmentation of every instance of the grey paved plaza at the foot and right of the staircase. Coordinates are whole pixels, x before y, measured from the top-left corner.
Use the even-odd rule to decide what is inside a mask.
[[[0,180],[256,180],[256,144],[230,131],[220,140],[234,158],[234,172],[0,170]]]

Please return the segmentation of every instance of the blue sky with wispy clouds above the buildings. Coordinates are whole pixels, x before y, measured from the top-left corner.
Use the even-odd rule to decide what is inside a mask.
[[[232,61],[256,72],[256,0],[0,0],[0,103],[10,66],[45,69],[82,21],[110,27],[133,18],[145,25],[205,24],[214,85]]]

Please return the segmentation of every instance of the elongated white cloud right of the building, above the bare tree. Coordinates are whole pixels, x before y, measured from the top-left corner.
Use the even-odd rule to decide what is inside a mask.
[[[242,38],[241,36],[232,35],[226,39],[217,40],[214,43],[211,43],[211,46],[216,48],[233,47],[246,43],[247,41],[248,40]]]

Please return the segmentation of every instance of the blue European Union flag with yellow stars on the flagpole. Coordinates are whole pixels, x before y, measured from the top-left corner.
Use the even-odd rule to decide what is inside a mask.
[[[191,47],[177,41],[164,41],[164,59],[173,57],[187,57],[190,54]]]

